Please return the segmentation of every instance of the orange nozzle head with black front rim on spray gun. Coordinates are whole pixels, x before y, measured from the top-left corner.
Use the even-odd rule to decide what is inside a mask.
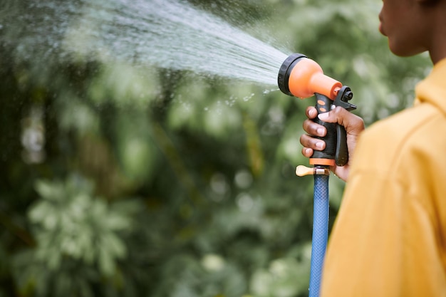
[[[283,93],[299,98],[308,98],[319,93],[334,100],[342,87],[338,80],[324,75],[318,63],[300,53],[286,58],[277,80]]]

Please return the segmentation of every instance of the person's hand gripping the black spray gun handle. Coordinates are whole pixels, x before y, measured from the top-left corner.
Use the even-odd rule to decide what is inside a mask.
[[[305,157],[311,157],[314,150],[323,150],[325,148],[325,142],[314,138],[314,136],[323,137],[326,135],[327,130],[322,125],[318,125],[313,122],[313,118],[316,118],[317,111],[313,106],[306,108],[306,116],[308,119],[304,121],[304,130],[308,134],[301,135],[301,145],[304,145],[302,149],[302,155]],[[355,151],[356,142],[358,137],[363,132],[364,121],[358,115],[353,115],[353,113],[347,110],[336,107],[328,113],[321,113],[318,118],[326,123],[338,123],[338,125],[343,125],[347,132],[347,147],[348,147],[348,163],[345,166],[331,166],[331,171],[334,172],[343,181],[347,181],[348,174],[350,172],[350,164],[353,160],[353,152]]]

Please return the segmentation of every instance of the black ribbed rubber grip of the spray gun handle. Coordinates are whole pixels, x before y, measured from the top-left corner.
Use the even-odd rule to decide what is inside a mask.
[[[328,113],[331,110],[331,104],[332,100],[325,95],[321,95],[318,93],[315,93],[316,95],[316,105],[315,108],[318,112],[318,115],[320,113]],[[313,155],[310,157],[311,159],[330,159],[334,160],[336,157],[336,143],[338,142],[338,134],[336,131],[336,126],[338,126],[336,123],[325,123],[321,120],[319,120],[318,117],[313,119],[313,122],[323,125],[323,127],[326,127],[327,133],[326,136],[319,137],[316,136],[316,138],[323,140],[326,143],[325,149],[322,151],[315,150],[313,152]]]

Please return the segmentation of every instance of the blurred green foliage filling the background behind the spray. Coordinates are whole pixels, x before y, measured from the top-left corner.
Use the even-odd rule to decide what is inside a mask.
[[[410,105],[428,70],[389,53],[379,1],[192,2],[318,61],[367,125]],[[294,167],[311,100],[27,59],[7,30],[20,9],[0,8],[0,296],[306,296],[313,182]]]

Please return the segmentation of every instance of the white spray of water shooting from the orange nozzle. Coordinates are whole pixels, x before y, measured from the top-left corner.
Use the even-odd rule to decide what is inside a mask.
[[[124,61],[276,85],[288,56],[183,0],[46,0],[16,9],[0,30],[20,24],[4,36],[31,58]]]

